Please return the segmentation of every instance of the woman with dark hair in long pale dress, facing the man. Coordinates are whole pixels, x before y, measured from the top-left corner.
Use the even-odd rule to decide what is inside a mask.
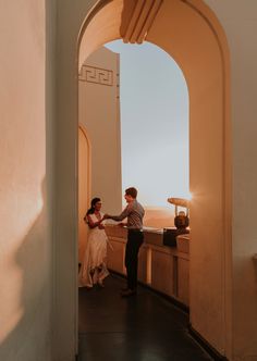
[[[88,224],[89,233],[85,257],[78,275],[79,287],[93,287],[95,284],[103,287],[102,281],[109,274],[105,263],[108,238],[102,224],[103,213],[100,212],[100,198],[94,198],[91,208],[84,217]]]

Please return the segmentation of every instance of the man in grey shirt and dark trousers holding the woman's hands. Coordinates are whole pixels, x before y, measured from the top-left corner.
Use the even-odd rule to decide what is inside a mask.
[[[134,187],[125,190],[124,198],[127,202],[126,208],[120,215],[105,214],[103,219],[122,221],[127,219],[127,223],[121,225],[127,226],[127,242],[125,250],[125,266],[127,276],[127,287],[121,292],[122,297],[130,297],[136,294],[137,286],[137,259],[138,251],[144,240],[143,217],[145,210],[136,200],[137,190]]]

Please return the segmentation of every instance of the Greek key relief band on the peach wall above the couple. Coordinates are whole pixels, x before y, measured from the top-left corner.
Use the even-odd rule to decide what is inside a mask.
[[[113,71],[83,65],[78,79],[82,82],[113,86]]]

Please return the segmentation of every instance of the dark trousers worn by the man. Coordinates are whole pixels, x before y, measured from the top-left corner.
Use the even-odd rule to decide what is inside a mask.
[[[128,229],[125,251],[125,266],[127,288],[135,290],[137,286],[138,251],[144,241],[144,234],[139,229]]]

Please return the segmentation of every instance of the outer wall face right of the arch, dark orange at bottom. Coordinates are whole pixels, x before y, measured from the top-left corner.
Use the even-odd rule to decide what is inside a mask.
[[[233,161],[233,360],[257,360],[257,3],[206,0],[230,46]]]

